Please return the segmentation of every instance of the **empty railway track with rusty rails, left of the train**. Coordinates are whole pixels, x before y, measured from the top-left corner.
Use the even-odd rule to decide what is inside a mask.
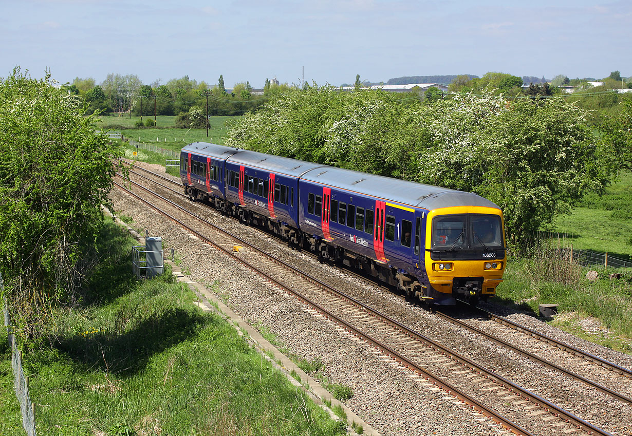
[[[171,183],[171,181],[169,182]],[[166,186],[163,185],[163,187]],[[184,197],[183,195],[181,196]],[[147,200],[142,201],[147,202]],[[185,212],[184,207],[176,205],[174,202],[171,202],[171,200],[162,198],[162,201],[171,203],[171,205],[179,211]],[[159,209],[155,205],[152,205],[152,207]],[[191,212],[186,213],[191,214]],[[179,222],[181,226],[185,226],[183,222],[178,221],[174,217],[171,217],[171,219]],[[204,221],[201,217],[196,217],[195,219]],[[216,227],[208,221],[206,221],[206,225]],[[221,236],[221,238],[233,239],[228,241],[222,239],[222,241],[210,242],[209,238],[206,238],[206,236],[203,236],[199,232],[197,236],[214,245],[219,243],[218,246],[223,246],[222,250],[225,253],[233,257],[238,257],[241,262],[245,260],[244,258],[246,256],[243,255],[243,253],[234,255],[231,253],[230,248],[234,245],[235,241],[240,245],[248,246],[246,241],[236,238],[235,236],[228,236],[224,231],[217,228],[214,228],[212,233],[214,235],[223,233],[224,235]],[[250,250],[252,250],[253,253],[257,253],[258,258],[264,256],[269,258],[267,253],[258,251],[258,248],[251,247],[246,252]],[[260,262],[260,260],[253,260],[253,263],[256,264],[257,262]],[[425,337],[423,334],[415,332],[415,330],[406,327],[398,321],[377,312],[367,305],[363,305],[360,301],[340,293],[314,277],[306,276],[304,273],[296,270],[295,267],[291,265],[283,266],[284,262],[279,259],[274,259],[272,263],[274,263],[275,266],[272,268],[272,273],[270,274],[265,272],[263,267],[254,268],[257,269],[257,274],[274,282],[276,286],[280,286],[293,294],[300,294],[298,298],[312,305],[313,310],[344,325],[344,329],[351,332],[351,334],[362,338],[363,341],[380,349],[381,353],[384,353],[386,356],[391,356],[402,365],[411,368],[416,373],[422,375],[423,378],[427,379],[428,383],[441,386],[441,388],[431,389],[443,389],[449,392],[459,398],[460,401],[464,401],[477,410],[483,411],[485,415],[493,416],[494,420],[501,422],[502,425],[507,428],[511,428],[513,432],[529,434],[528,430],[525,430],[525,428],[522,428],[518,424],[514,424],[511,419],[502,418],[502,416],[497,415],[492,408],[485,404],[492,404],[495,400],[496,404],[494,408],[502,409],[503,407],[499,407],[499,403],[506,404],[511,401],[513,408],[510,415],[513,415],[514,418],[518,418],[517,421],[525,421],[525,427],[529,427],[529,421],[533,421],[533,418],[537,418],[537,420],[547,423],[548,427],[555,428],[555,430],[567,432],[580,430],[589,434],[609,434],[597,428],[595,425],[581,420],[581,418],[574,416],[572,413],[568,413],[568,411],[565,411],[555,404],[549,403],[544,398],[521,388],[501,375],[487,370],[484,366],[469,360],[465,356],[461,356],[447,349],[429,337]],[[284,282],[288,281],[288,277],[284,276],[284,274],[287,273],[279,272],[279,267],[281,266],[291,271],[291,276],[303,277],[303,283],[298,286],[298,288],[301,288],[301,292],[291,291],[291,286],[284,284]],[[253,265],[249,267],[253,268]],[[272,274],[280,274],[283,277],[279,277],[279,279],[272,278]],[[293,279],[295,278],[289,280],[291,281]],[[307,286],[305,281],[310,283],[310,286]],[[315,288],[314,285],[316,285]],[[305,295],[305,293],[307,293],[305,289],[308,289],[310,293],[309,296]],[[340,301],[344,301],[344,305],[341,305]],[[433,372],[428,372],[425,369],[428,367],[434,368]],[[442,373],[442,376],[437,376],[435,373]],[[465,384],[465,389],[460,389],[458,383]],[[465,392],[468,389],[470,393]],[[477,399],[475,397],[476,395],[478,395],[478,397],[484,397],[484,401]],[[506,409],[506,406],[504,408]],[[540,427],[536,427],[538,430],[540,429]]]

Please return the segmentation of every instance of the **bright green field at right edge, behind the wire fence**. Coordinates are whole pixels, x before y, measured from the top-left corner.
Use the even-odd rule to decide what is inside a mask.
[[[605,195],[587,195],[571,215],[553,223],[554,232],[574,248],[632,255],[632,174],[620,174]]]

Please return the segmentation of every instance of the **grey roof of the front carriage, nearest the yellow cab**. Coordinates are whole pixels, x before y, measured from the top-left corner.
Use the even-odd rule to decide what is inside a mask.
[[[375,176],[351,169],[323,167],[309,171],[301,179],[428,210],[453,206],[499,209],[494,203],[474,193]]]

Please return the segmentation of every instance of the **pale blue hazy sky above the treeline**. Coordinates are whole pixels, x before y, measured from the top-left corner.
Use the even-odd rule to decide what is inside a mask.
[[[0,77],[227,88],[400,76],[632,76],[632,2],[0,0]],[[304,71],[304,73],[303,73]]]

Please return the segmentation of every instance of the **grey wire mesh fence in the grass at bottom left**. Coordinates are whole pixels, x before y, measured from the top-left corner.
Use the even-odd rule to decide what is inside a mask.
[[[2,274],[0,274],[0,291],[4,291],[4,283]],[[13,385],[15,385],[15,396],[20,403],[20,413],[22,415],[22,427],[28,436],[35,436],[35,403],[31,403],[28,394],[28,377],[22,369],[22,356],[18,349],[18,344],[13,334],[13,324],[11,323],[11,314],[9,307],[4,300],[4,326],[9,336],[9,345],[11,346],[11,368],[13,368]]]

